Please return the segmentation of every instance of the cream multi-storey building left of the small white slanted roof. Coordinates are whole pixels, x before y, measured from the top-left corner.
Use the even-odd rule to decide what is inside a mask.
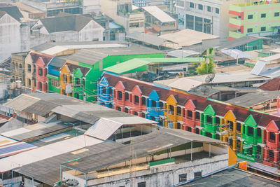
[[[144,32],[144,13],[133,11],[131,0],[102,0],[100,4],[102,12],[113,18],[118,25],[122,25],[125,32]]]

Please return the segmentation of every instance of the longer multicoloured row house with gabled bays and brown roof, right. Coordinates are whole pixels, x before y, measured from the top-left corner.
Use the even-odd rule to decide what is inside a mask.
[[[239,158],[279,167],[280,117],[104,73],[98,103],[228,142]],[[269,164],[270,163],[270,164]]]

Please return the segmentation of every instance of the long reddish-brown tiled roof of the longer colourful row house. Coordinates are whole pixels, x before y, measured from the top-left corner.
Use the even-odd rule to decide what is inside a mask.
[[[244,122],[248,116],[253,115],[253,118],[255,119],[255,123],[257,125],[266,127],[271,120],[279,121],[279,116],[272,116],[267,113],[260,113],[257,111],[251,111],[248,109],[244,109],[240,106],[235,106],[232,104],[224,104],[222,102],[214,102],[204,97],[199,97],[196,95],[190,95],[190,94],[183,94],[181,92],[175,92],[172,90],[167,90],[165,88],[160,88],[158,86],[153,85],[152,83],[146,83],[144,81],[139,81],[132,78],[126,78],[123,76],[113,76],[111,74],[104,74],[107,81],[109,82],[109,85],[112,87],[115,87],[118,81],[122,81],[123,85],[125,86],[125,90],[131,92],[135,85],[139,85],[141,87],[141,92],[144,96],[149,96],[153,90],[155,90],[160,99],[163,101],[166,101],[169,95],[174,95],[177,102],[181,106],[185,106],[186,102],[189,99],[192,99],[195,107],[198,111],[204,111],[204,109],[207,108],[209,104],[211,104],[212,108],[214,109],[217,116],[225,116],[225,114],[232,110],[232,112],[235,114],[238,121]]]

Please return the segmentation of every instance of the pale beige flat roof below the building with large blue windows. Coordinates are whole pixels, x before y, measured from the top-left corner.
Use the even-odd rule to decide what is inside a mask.
[[[192,46],[197,43],[202,43],[202,40],[218,38],[218,36],[206,34],[203,32],[197,32],[192,29],[184,29],[179,32],[163,34],[159,37],[161,39],[166,39],[178,44],[178,46],[174,46],[174,44],[172,43],[166,43],[166,46],[169,48],[182,48],[184,46]]]

